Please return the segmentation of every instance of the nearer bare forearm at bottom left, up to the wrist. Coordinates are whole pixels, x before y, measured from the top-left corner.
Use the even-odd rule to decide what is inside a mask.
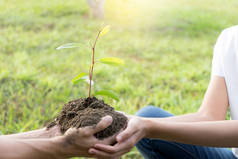
[[[9,139],[0,137],[0,158],[56,159],[59,145],[53,139]]]

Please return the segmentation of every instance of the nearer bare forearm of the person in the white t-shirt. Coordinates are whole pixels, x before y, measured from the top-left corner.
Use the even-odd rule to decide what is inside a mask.
[[[186,144],[238,147],[238,121],[161,122],[146,120],[146,137]]]

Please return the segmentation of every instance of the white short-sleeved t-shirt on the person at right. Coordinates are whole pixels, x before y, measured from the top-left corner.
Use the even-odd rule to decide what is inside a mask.
[[[212,76],[224,77],[231,120],[238,120],[238,26],[223,30],[219,36],[214,47]],[[238,157],[238,148],[232,151]]]

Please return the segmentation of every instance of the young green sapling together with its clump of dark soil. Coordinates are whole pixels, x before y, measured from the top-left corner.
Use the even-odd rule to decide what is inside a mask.
[[[71,127],[81,128],[85,126],[96,125],[102,117],[110,115],[113,118],[112,124],[106,129],[94,134],[98,139],[104,139],[110,137],[120,130],[124,129],[127,123],[127,117],[122,113],[114,110],[113,107],[104,103],[103,100],[98,100],[96,95],[108,96],[115,100],[119,98],[112,91],[99,90],[92,94],[93,77],[95,64],[103,63],[112,66],[120,66],[124,62],[116,57],[104,57],[96,59],[96,44],[98,39],[105,35],[110,30],[110,26],[105,26],[100,29],[96,35],[91,49],[91,64],[89,66],[88,74],[85,72],[79,73],[75,78],[72,79],[74,84],[86,81],[89,83],[88,97],[72,100],[64,104],[61,112],[57,115],[54,121],[52,121],[47,128],[50,129],[53,126],[59,126],[62,133],[66,132]],[[80,47],[79,43],[68,43],[64,44],[57,49],[76,48]]]

